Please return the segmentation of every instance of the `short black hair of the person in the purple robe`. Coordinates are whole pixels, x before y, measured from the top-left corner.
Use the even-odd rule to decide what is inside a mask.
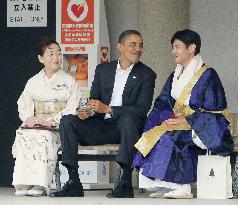
[[[201,38],[197,32],[189,29],[177,31],[171,39],[171,44],[173,44],[176,39],[182,41],[186,45],[186,47],[195,44],[196,45],[195,55],[200,53]]]

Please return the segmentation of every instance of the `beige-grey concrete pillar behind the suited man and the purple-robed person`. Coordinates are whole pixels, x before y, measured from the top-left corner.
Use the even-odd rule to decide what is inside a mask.
[[[157,73],[155,96],[174,70],[170,39],[189,27],[189,0],[105,0],[111,59],[118,57],[116,43],[123,30],[136,29],[144,38],[142,61]]]

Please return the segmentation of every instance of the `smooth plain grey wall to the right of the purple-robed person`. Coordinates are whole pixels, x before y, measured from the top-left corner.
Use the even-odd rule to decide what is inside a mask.
[[[231,112],[238,113],[238,1],[191,0],[191,28],[202,38],[201,54],[218,72]]]

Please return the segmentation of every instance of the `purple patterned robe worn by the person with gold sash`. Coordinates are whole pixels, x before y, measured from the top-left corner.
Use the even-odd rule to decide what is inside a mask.
[[[173,76],[174,72],[157,97],[144,132],[160,125],[173,114]],[[222,111],[227,108],[224,88],[213,68],[208,68],[194,85],[189,106],[195,112],[187,116],[186,120],[203,144],[212,153],[230,155],[233,141],[228,120],[223,114],[201,112],[199,109]],[[150,179],[190,184],[197,180],[197,158],[198,154],[203,152],[204,150],[193,142],[191,130],[166,132],[146,157],[137,152],[132,166],[143,168],[142,174]]]

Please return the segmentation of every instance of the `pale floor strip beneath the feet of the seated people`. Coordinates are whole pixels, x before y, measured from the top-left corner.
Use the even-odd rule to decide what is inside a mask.
[[[108,190],[85,191],[85,197],[27,197],[15,196],[13,188],[0,188],[0,205],[237,205],[238,199],[201,200],[201,199],[162,199],[149,198],[149,192],[138,193],[133,199],[108,199]]]

